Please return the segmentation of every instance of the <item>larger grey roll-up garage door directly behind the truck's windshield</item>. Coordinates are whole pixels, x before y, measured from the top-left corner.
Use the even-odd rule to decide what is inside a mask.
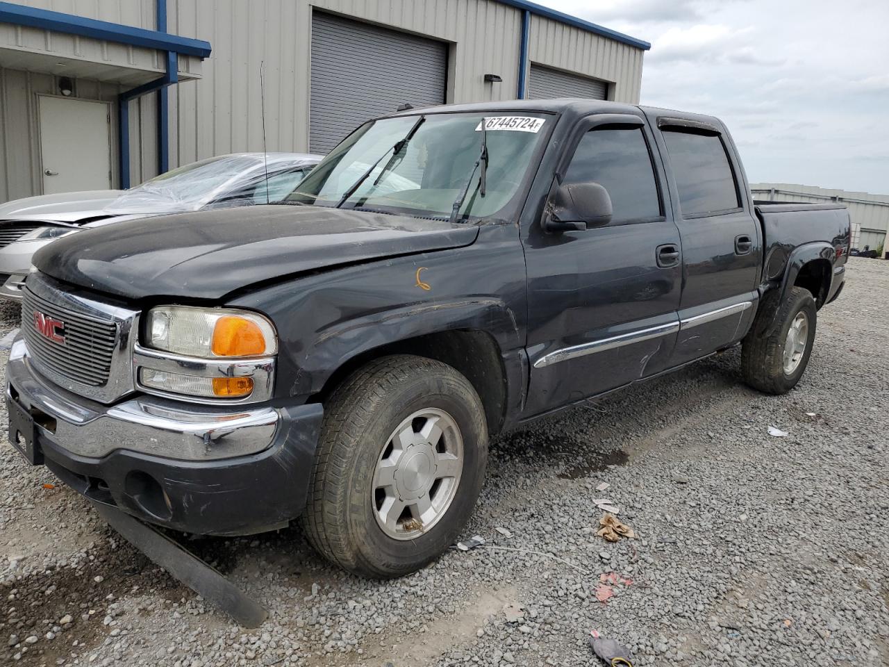
[[[405,102],[445,102],[447,45],[338,16],[312,16],[309,149],[326,153]]]

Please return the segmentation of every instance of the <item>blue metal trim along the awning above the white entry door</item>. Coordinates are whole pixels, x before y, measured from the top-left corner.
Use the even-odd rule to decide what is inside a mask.
[[[83,16],[74,16],[62,12],[50,12],[35,7],[25,7],[20,4],[0,2],[0,23],[12,23],[28,28],[41,28],[67,33],[68,35],[80,35],[93,39],[104,39],[108,42],[119,44],[132,44],[144,46],[149,49],[172,51],[182,55],[207,58],[210,55],[210,43],[203,39],[191,39],[178,35],[168,35],[157,30],[145,28],[132,28],[122,26],[119,23],[111,23],[106,20],[86,19]]]

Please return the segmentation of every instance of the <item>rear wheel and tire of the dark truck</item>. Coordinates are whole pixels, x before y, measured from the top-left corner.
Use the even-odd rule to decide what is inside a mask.
[[[817,321],[815,300],[808,290],[793,287],[787,300],[777,303],[780,297],[778,290],[765,294],[759,309],[760,315],[741,345],[741,373],[744,382],[756,390],[776,395],[786,394],[803,377],[812,354]],[[770,324],[767,321],[768,314],[775,313],[776,306],[777,326],[773,333],[765,335],[765,329]],[[790,328],[797,326],[801,320],[805,321],[805,335],[795,335],[798,343],[794,346],[796,353],[785,358],[785,351],[790,345]],[[799,328],[797,333],[800,333]],[[800,350],[803,341],[805,349]],[[785,362],[788,362],[787,365]]]

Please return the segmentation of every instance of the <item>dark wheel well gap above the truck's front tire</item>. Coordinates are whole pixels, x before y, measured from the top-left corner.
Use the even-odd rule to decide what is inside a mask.
[[[506,406],[506,373],[500,346],[491,334],[482,331],[427,333],[363,352],[334,371],[310,402],[324,403],[348,375],[373,359],[391,354],[412,354],[453,366],[469,380],[482,399],[488,432],[494,435],[501,430]]]

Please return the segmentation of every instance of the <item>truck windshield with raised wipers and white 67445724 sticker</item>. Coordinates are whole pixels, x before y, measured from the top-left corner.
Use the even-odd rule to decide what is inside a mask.
[[[483,170],[473,170],[482,150],[482,118],[484,195]],[[456,220],[496,217],[516,196],[551,122],[543,114],[509,112],[372,121],[333,149],[283,203],[446,220],[466,190]]]

